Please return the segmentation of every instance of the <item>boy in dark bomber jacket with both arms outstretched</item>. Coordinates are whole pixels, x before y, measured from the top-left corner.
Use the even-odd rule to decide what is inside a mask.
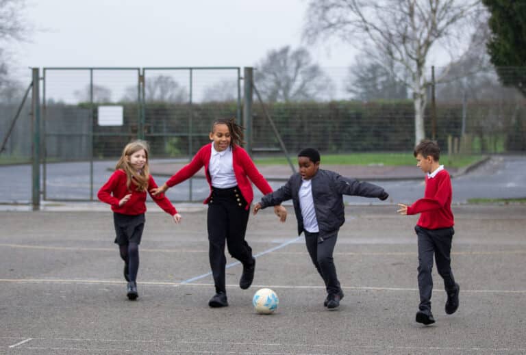
[[[284,186],[263,196],[254,205],[253,213],[292,199],[298,220],[298,235],[301,232],[305,234],[310,258],[325,282],[327,298],[323,305],[332,310],[340,306],[343,298],[332,257],[338,231],[345,222],[343,195],[386,200],[389,194],[377,185],[320,169],[320,153],[314,148],[299,152],[298,165],[299,172],[290,176]]]

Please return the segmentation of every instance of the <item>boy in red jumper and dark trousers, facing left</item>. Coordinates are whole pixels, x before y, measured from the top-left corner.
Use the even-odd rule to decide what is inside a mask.
[[[414,230],[418,236],[418,290],[420,306],[416,313],[418,323],[435,322],[431,313],[431,292],[433,291],[433,255],[438,274],[444,279],[447,293],[445,311],[451,315],[458,308],[460,287],[451,271],[451,241],[453,239],[453,213],[451,212],[451,177],[444,166],[438,163],[440,148],[436,142],[424,140],[414,148],[416,166],[425,172],[424,198],[412,205],[399,203],[397,212],[401,215],[421,213]]]

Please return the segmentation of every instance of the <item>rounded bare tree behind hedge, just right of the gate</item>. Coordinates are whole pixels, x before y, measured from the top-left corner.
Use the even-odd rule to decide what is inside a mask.
[[[267,101],[309,101],[331,94],[331,79],[304,48],[270,51],[255,67],[255,85]]]

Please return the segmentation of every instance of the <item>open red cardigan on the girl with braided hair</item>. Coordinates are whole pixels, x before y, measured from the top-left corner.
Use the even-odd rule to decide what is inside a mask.
[[[208,200],[210,200],[210,196],[212,195],[212,178],[210,177],[210,172],[208,172],[210,157],[212,156],[212,144],[213,143],[202,146],[196,153],[195,157],[193,157],[192,161],[190,161],[190,163],[181,168],[181,170],[168,179],[168,181],[166,181],[166,185],[168,187],[172,187],[173,185],[182,183],[186,179],[192,177],[199,171],[199,169],[204,166],[206,181],[208,181],[208,185],[210,185],[210,194],[203,203],[208,203]],[[234,174],[236,175],[236,181],[238,181],[238,187],[242,196],[247,201],[246,209],[249,209],[250,204],[254,198],[254,192],[252,191],[252,185],[250,181],[252,181],[254,185],[260,189],[262,194],[266,195],[272,192],[271,186],[268,185],[263,175],[259,172],[258,168],[255,167],[252,159],[249,157],[245,149],[241,148],[240,146],[232,147],[232,164],[234,165]]]

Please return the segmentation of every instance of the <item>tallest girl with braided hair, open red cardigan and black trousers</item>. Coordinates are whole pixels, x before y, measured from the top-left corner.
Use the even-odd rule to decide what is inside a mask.
[[[210,185],[210,195],[203,203],[208,204],[208,241],[215,295],[210,307],[228,306],[225,286],[225,244],[229,253],[243,265],[239,281],[241,289],[252,284],[255,258],[245,240],[250,205],[253,200],[251,182],[262,194],[269,194],[272,188],[255,167],[247,151],[242,148],[243,127],[234,118],[214,120],[210,131],[211,144],[201,147],[192,161],[173,175],[164,185],[153,189],[152,194],[162,194],[169,187],[182,183],[196,174],[203,166]],[[287,211],[281,205],[274,207],[281,222],[286,220]]]

